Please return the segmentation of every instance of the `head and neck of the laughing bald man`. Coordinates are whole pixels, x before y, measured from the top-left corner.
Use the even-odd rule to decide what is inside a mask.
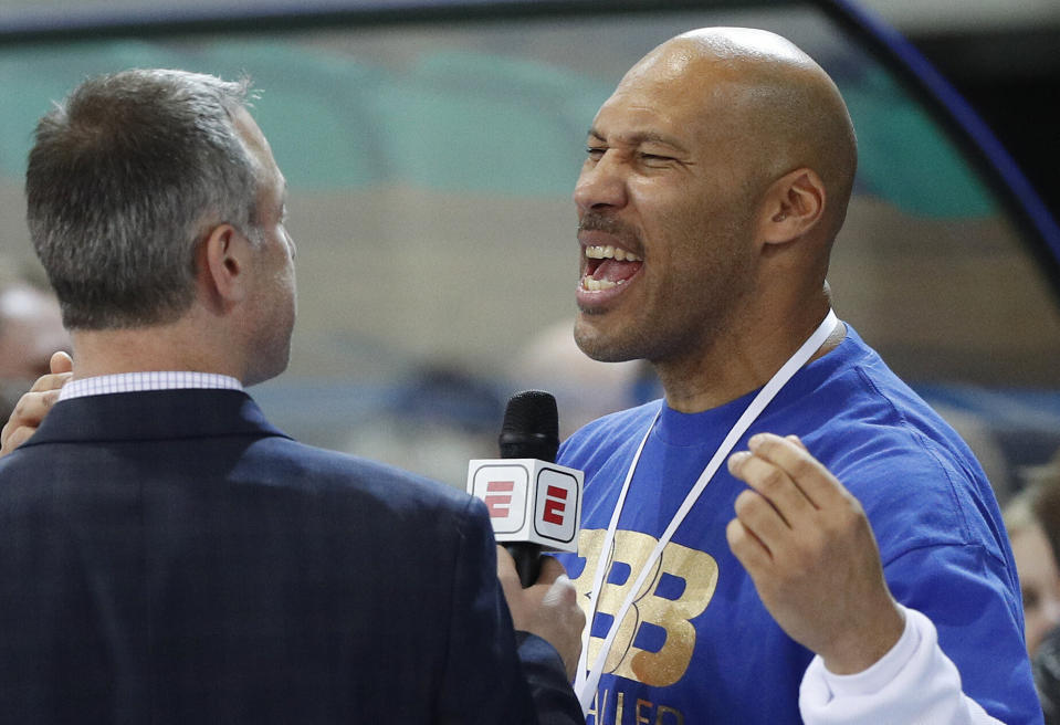
[[[854,157],[835,84],[783,38],[714,28],[653,50],[586,139],[578,346],[651,361],[686,412],[763,385],[828,308]]]

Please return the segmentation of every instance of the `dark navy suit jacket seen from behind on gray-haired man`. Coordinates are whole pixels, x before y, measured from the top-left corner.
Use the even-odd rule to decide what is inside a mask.
[[[55,406],[0,460],[0,719],[583,722],[485,507],[243,392]]]

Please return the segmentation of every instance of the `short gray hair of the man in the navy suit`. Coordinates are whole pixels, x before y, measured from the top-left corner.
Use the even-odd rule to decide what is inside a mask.
[[[195,298],[203,234],[227,222],[256,239],[256,167],[234,125],[249,85],[125,71],[41,118],[27,220],[67,328],[172,322]]]

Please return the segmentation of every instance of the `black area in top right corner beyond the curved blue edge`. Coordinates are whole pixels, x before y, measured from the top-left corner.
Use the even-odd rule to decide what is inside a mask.
[[[975,107],[1060,216],[1060,28],[907,38]]]

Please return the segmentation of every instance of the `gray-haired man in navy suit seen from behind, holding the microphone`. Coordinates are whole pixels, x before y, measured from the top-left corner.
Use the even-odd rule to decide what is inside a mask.
[[[481,502],[298,444],[243,392],[285,368],[295,319],[284,179],[245,98],[128,71],[38,126],[28,218],[76,369],[0,461],[0,712],[580,722],[585,620],[555,559],[521,589]]]

